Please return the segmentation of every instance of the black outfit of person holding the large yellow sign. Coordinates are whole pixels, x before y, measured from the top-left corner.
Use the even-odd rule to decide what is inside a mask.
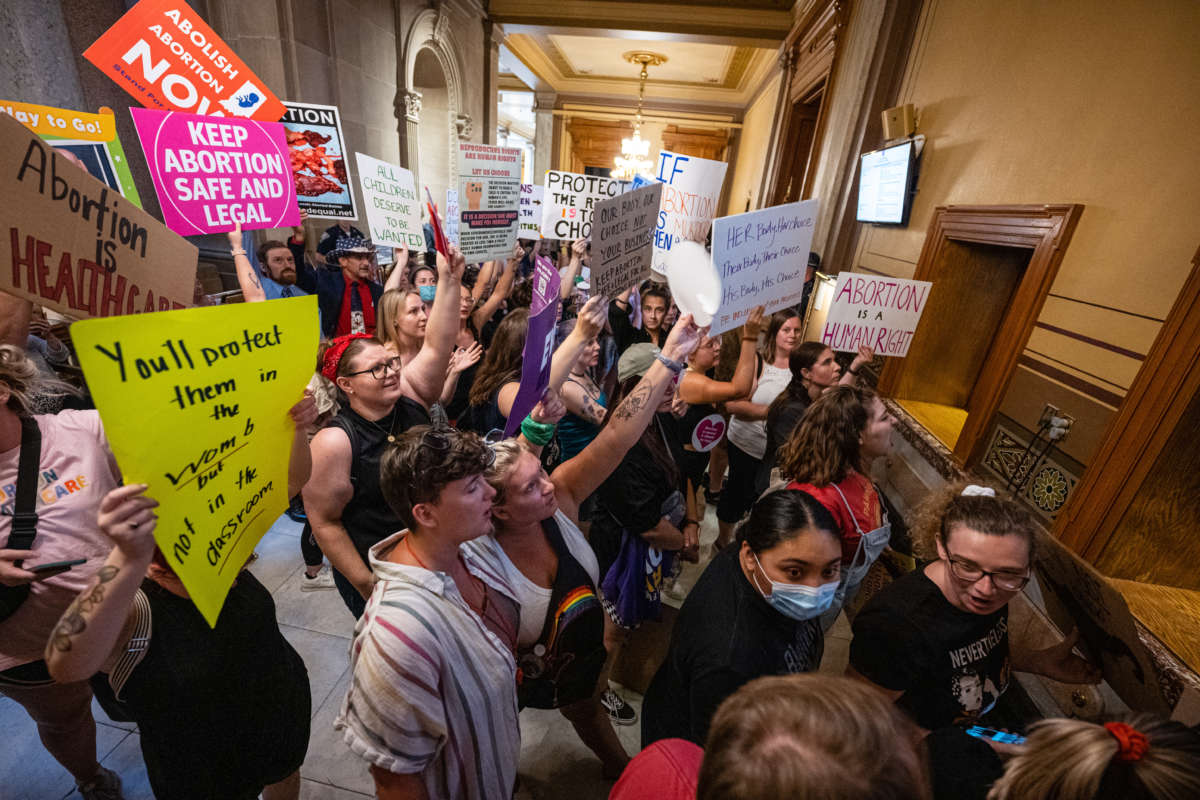
[[[296,771],[308,750],[308,670],[266,588],[241,572],[215,628],[190,599],[149,579],[142,591],[152,633],[122,699],[155,796],[257,798]]]

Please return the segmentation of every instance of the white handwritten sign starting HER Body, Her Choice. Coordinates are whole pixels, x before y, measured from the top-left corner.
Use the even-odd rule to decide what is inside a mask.
[[[713,222],[713,265],[721,302],[710,336],[733,330],[756,306],[769,314],[804,296],[817,200],[721,217]]]

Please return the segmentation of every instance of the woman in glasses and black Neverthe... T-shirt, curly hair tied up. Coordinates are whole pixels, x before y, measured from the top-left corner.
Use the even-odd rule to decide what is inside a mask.
[[[848,674],[887,692],[926,730],[986,714],[1013,669],[1099,682],[1072,654],[1075,633],[1046,650],[1009,645],[1008,601],[1030,581],[1037,541],[1027,511],[991,488],[950,486],[917,510],[913,534],[936,545],[937,560],[858,613]]]

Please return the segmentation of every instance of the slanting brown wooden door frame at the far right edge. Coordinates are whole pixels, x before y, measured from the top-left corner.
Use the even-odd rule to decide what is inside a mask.
[[[1051,533],[1096,561],[1200,391],[1200,249],[1141,369]]]

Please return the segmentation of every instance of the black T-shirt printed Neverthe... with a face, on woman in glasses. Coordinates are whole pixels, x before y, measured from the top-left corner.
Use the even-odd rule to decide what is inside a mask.
[[[917,570],[854,618],[850,666],[904,691],[896,704],[930,730],[986,714],[1008,687],[1008,606],[972,614]]]

